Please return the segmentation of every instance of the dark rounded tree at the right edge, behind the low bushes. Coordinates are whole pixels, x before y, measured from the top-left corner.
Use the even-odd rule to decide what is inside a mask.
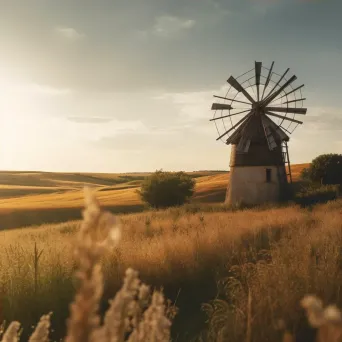
[[[302,171],[303,179],[313,183],[342,184],[342,154],[322,154]]]

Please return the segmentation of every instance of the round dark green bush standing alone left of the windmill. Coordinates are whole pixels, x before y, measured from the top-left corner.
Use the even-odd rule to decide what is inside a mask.
[[[166,208],[186,203],[194,193],[195,180],[185,172],[158,170],[146,177],[139,194],[154,208]]]

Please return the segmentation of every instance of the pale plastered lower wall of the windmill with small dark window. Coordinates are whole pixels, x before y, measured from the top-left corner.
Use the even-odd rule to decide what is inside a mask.
[[[286,187],[285,166],[233,166],[226,203],[256,205],[278,202]]]

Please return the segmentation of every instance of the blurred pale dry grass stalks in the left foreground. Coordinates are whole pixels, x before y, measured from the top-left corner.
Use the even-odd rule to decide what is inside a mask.
[[[120,237],[121,229],[116,217],[102,211],[92,191],[86,188],[83,221],[74,250],[79,288],[70,305],[65,342],[170,340],[171,320],[166,315],[163,294],[155,291],[150,298],[149,287],[140,282],[138,273],[132,269],[126,271],[123,286],[110,302],[101,324],[101,259],[119,243]],[[51,313],[41,317],[29,342],[49,341],[50,316]],[[16,342],[19,337],[20,323],[15,321],[4,332],[2,342]]]

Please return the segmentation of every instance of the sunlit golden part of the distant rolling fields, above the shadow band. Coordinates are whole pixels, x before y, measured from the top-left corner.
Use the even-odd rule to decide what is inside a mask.
[[[303,167],[293,165],[296,181]],[[225,192],[229,173],[193,172],[196,177],[195,201],[212,200],[213,194]],[[2,210],[81,208],[82,188],[91,185],[99,192],[97,197],[105,206],[141,204],[135,189],[148,174],[69,174],[47,172],[0,172],[0,205]],[[51,193],[50,193],[51,192]],[[38,193],[38,194],[37,194]],[[23,195],[31,196],[23,196]],[[12,198],[8,198],[12,195]]]

